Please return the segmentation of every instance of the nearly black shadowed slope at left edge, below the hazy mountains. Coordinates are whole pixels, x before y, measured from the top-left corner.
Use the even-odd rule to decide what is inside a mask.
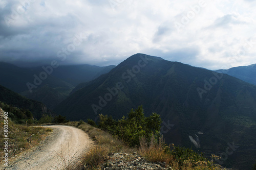
[[[33,117],[39,119],[42,114],[51,114],[41,102],[29,100],[24,96],[0,85],[0,101],[19,109],[29,110]]]

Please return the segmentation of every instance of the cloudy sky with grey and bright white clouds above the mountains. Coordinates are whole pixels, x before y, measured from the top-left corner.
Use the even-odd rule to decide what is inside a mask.
[[[117,65],[136,53],[208,69],[256,63],[256,1],[0,0],[0,61]]]

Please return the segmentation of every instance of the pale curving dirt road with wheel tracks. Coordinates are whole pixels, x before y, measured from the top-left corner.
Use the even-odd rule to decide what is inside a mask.
[[[20,154],[6,169],[62,169],[77,162],[93,145],[89,136],[70,126],[47,126],[53,133],[38,147]],[[69,161],[70,160],[70,161]]]

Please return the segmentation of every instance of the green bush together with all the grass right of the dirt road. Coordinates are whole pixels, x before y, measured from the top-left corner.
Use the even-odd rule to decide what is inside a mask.
[[[86,124],[82,120],[65,124],[82,129],[96,141],[94,148],[83,157],[83,164],[90,169],[97,168],[103,164],[110,153],[132,153],[135,151],[148,161],[165,162],[166,166],[172,166],[175,170],[221,169],[214,162],[214,160],[218,159],[217,156],[213,155],[210,161],[202,153],[199,154],[192,149],[174,146],[173,144],[167,146],[163,136],[156,135],[160,129],[158,121],[161,121],[161,119],[159,115],[154,113],[145,117],[142,106],[139,106],[136,110],[132,109],[128,117],[123,117],[120,120],[114,120],[107,115],[99,115],[99,118],[98,127],[102,130]],[[95,125],[93,120],[89,119],[88,122]],[[133,126],[126,127],[127,124],[132,124]],[[151,128],[148,125],[152,125]],[[120,131],[117,130],[126,128],[127,132],[121,131],[122,133],[119,133]],[[112,135],[103,130],[110,132]],[[131,136],[136,137],[130,140]],[[137,138],[139,138],[139,145],[136,145]]]

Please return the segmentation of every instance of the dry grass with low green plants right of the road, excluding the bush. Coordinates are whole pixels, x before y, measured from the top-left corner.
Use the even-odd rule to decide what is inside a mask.
[[[194,152],[191,149],[176,147],[174,145],[167,146],[163,137],[159,138],[159,140],[152,137],[150,143],[147,143],[145,138],[141,138],[139,148],[129,148],[117,137],[82,121],[69,122],[63,125],[77,127],[86,132],[95,141],[94,147],[83,155],[81,166],[86,167],[86,169],[98,169],[100,165],[109,159],[109,155],[119,152],[130,154],[138,152],[145,160],[165,162],[166,167],[171,166],[173,170],[225,169],[214,163],[214,160],[218,159],[217,156],[212,155],[212,160],[207,160],[202,154]]]

